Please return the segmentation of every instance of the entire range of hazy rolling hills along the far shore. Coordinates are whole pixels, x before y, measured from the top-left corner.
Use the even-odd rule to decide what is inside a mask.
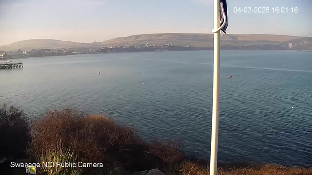
[[[134,44],[173,44],[174,46],[213,47],[213,34],[142,34],[117,37],[97,43],[78,43],[54,39],[31,39],[0,46],[0,51],[17,51],[31,49],[68,49],[95,48],[104,46],[122,46]],[[223,49],[250,50],[312,50],[312,37],[287,35],[223,35]]]

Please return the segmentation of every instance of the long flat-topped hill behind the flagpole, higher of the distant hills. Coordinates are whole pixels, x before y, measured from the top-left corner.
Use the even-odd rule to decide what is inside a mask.
[[[127,37],[117,37],[102,42],[105,46],[119,46],[127,44],[174,44],[176,46],[213,47],[213,34],[143,34]],[[221,46],[261,46],[279,45],[302,49],[312,49],[312,37],[286,35],[222,35]],[[300,46],[300,47],[299,47]]]

